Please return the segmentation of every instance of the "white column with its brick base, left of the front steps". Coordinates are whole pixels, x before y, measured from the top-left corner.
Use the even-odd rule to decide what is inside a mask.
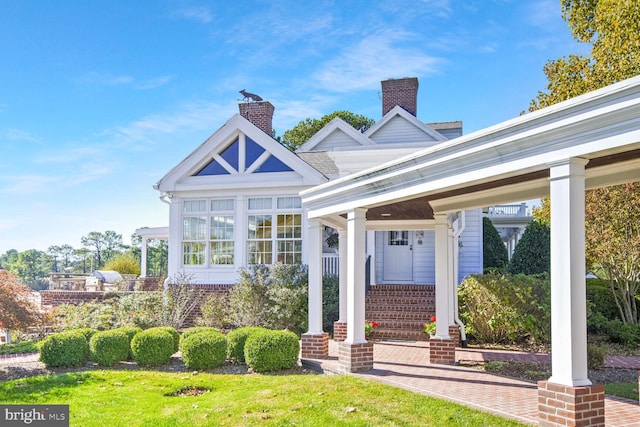
[[[345,372],[373,367],[373,343],[364,336],[366,212],[356,208],[347,213],[347,338],[338,354]]]

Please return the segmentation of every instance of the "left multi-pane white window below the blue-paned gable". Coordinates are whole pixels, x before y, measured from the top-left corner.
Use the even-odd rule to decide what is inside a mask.
[[[185,200],[182,212],[183,264],[232,265],[234,199]]]

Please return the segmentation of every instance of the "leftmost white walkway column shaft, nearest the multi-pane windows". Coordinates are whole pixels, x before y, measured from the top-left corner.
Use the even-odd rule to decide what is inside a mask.
[[[309,265],[309,333],[322,333],[322,226],[315,219],[307,226]]]

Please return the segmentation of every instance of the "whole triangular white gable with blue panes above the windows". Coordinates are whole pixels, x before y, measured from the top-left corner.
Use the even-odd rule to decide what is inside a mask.
[[[162,192],[215,188],[318,185],[327,178],[236,114],[155,188]]]

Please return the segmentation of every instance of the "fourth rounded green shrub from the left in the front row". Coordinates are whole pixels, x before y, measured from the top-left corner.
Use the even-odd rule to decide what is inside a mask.
[[[218,331],[191,334],[182,341],[182,360],[189,369],[213,369],[227,358],[227,338]]]

